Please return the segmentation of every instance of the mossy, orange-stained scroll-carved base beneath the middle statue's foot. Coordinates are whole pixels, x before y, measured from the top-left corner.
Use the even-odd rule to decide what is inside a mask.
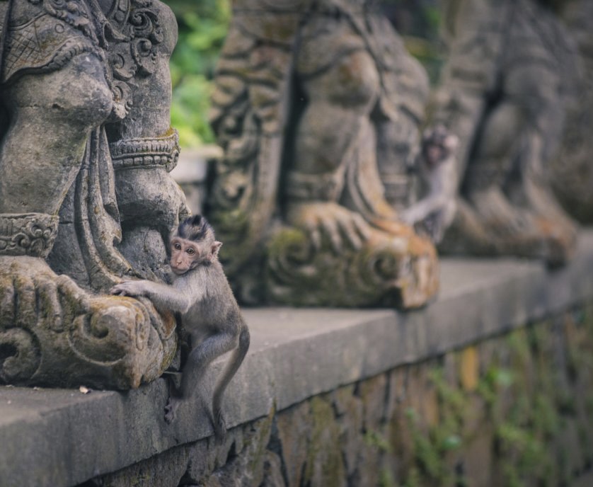
[[[269,304],[415,308],[438,290],[437,254],[412,231],[373,229],[359,250],[336,253],[285,227],[268,244],[265,289]]]

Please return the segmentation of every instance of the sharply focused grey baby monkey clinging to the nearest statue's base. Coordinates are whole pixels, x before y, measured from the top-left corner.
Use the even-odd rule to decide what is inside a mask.
[[[226,280],[218,252],[222,243],[204,217],[185,219],[171,238],[173,285],[147,280],[125,281],[111,289],[120,296],[146,296],[156,309],[178,312],[190,336],[191,351],[181,374],[181,387],[170,394],[165,420],[175,419],[177,408],[191,399],[212,360],[234,350],[212,398],[214,433],[221,440],[226,425],[221,412],[222,395],[249,348],[249,331]]]

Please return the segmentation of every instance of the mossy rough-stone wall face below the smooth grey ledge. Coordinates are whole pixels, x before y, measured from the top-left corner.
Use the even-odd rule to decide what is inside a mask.
[[[593,302],[81,487],[560,486],[593,460]]]

